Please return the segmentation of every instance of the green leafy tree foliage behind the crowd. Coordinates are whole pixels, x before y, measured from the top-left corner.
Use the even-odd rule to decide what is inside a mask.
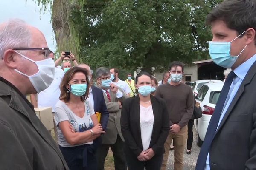
[[[163,71],[174,60],[209,58],[205,17],[221,1],[90,0],[71,5],[68,22],[79,39],[80,61],[92,68]]]

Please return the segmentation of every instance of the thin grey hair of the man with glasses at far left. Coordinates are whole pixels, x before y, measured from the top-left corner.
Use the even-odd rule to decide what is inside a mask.
[[[29,25],[20,19],[11,19],[0,25],[0,58],[7,49],[26,48],[31,43]]]

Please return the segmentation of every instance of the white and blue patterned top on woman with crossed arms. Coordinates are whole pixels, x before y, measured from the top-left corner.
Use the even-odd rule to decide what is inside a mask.
[[[79,116],[76,116],[76,114],[73,113],[73,111],[71,111],[71,109],[64,102],[62,101],[57,102],[55,106],[54,121],[57,125],[58,141],[60,146],[74,147],[74,146],[79,146],[83,144],[93,144],[93,141],[91,141],[83,144],[70,145],[67,142],[67,140],[64,138],[64,135],[58,125],[59,122],[63,122],[67,120],[73,125],[75,132],[84,132],[86,130],[93,128],[93,121],[91,119],[91,115],[94,114],[93,106],[88,100],[84,102],[84,106],[85,106],[85,112],[84,112],[84,116],[81,118]]]

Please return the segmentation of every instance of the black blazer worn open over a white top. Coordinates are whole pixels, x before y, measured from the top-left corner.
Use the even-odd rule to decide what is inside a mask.
[[[155,155],[164,153],[163,144],[169,133],[169,114],[163,99],[151,95],[151,103],[154,114],[154,125],[149,148]],[[125,144],[136,155],[143,151],[140,135],[140,98],[130,97],[125,100],[121,113],[121,130]]]

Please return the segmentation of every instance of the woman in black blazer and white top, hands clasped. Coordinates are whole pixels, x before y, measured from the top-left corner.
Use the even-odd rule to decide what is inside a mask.
[[[139,95],[126,99],[121,113],[128,169],[160,170],[169,133],[166,104],[150,95],[153,89],[147,72],[137,74],[135,84]]]

